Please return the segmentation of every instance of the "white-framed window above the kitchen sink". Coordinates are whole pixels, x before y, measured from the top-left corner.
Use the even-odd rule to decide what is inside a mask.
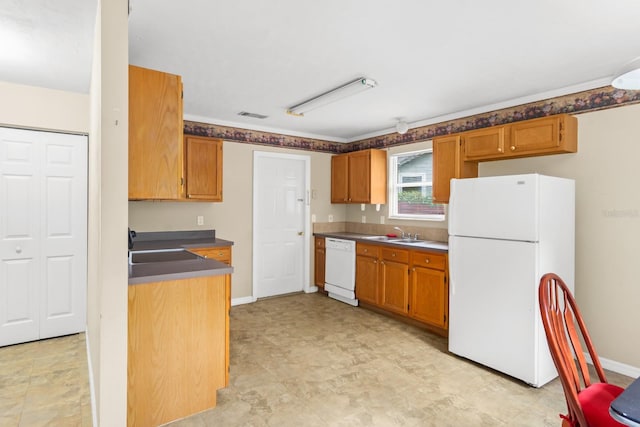
[[[389,217],[444,220],[444,206],[434,204],[432,150],[390,156]]]

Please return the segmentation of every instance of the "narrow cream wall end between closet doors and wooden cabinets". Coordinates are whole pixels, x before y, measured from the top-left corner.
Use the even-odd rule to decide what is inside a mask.
[[[100,426],[127,423],[127,0],[98,4],[91,77],[87,338]]]

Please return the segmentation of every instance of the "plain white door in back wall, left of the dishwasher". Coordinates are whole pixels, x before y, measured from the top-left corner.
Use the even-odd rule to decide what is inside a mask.
[[[254,153],[253,295],[309,286],[309,156]]]

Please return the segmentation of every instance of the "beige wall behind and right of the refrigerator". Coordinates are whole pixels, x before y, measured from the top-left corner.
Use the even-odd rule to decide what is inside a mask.
[[[578,115],[578,152],[480,163],[576,180],[578,305],[601,358],[640,369],[640,105]]]

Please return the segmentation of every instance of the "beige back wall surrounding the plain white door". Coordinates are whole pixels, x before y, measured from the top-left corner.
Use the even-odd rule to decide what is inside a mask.
[[[251,297],[253,247],[253,152],[280,151],[311,157],[311,212],[326,222],[329,214],[344,221],[342,205],[331,205],[331,155],[225,141],[223,202],[129,202],[129,225],[136,231],[215,229],[216,237],[234,242],[232,298]],[[204,225],[196,225],[196,216]],[[312,239],[313,240],[313,239]],[[310,248],[311,250],[311,248]],[[313,272],[310,274],[313,278]],[[311,279],[312,280],[312,279]]]

